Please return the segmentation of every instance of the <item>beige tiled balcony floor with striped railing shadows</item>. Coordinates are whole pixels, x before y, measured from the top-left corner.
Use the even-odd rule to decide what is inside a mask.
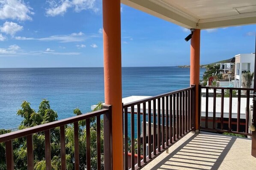
[[[143,170],[256,170],[251,140],[214,133],[189,133]]]

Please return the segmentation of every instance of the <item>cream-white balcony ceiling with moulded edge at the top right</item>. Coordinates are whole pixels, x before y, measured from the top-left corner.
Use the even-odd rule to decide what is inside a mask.
[[[256,0],[121,0],[185,28],[256,24]]]

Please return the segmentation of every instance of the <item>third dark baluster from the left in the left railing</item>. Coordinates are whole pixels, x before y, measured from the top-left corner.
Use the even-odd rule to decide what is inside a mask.
[[[46,170],[51,170],[51,133],[45,130],[45,166]]]

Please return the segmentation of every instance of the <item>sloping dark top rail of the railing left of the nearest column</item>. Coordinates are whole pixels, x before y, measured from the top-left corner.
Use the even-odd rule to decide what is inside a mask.
[[[45,130],[50,130],[50,129],[53,129],[53,128],[56,128],[56,127],[64,126],[66,124],[71,124],[71,123],[81,121],[81,120],[84,120],[84,119],[87,119],[87,118],[92,118],[92,117],[95,117],[95,116],[98,116],[98,115],[102,115],[102,114],[108,112],[108,110],[109,109],[101,109],[101,110],[98,110],[98,111],[95,111],[95,112],[89,112],[89,113],[86,113],[86,114],[73,116],[71,118],[65,118],[65,119],[62,119],[62,120],[59,120],[59,121],[53,121],[53,122],[50,122],[50,123],[47,123],[47,124],[42,124],[42,125],[38,125],[38,126],[35,126],[35,127],[29,127],[27,129],[11,132],[11,133],[6,133],[6,134],[3,134],[3,135],[0,135],[0,143],[10,141],[10,140],[13,140],[15,138],[21,138],[21,137],[31,135],[31,134],[34,134],[34,133],[39,133],[39,132],[42,132],[42,131],[45,131]]]

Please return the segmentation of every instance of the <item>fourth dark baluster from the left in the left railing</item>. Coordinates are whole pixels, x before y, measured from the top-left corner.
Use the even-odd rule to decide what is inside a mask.
[[[65,126],[60,127],[60,158],[61,170],[66,169]]]

